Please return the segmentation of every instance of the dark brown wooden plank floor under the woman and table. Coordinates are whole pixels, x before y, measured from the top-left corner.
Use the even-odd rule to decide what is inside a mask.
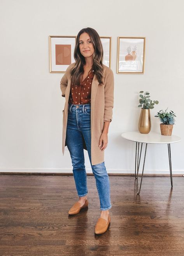
[[[88,176],[88,210],[70,175],[0,175],[1,256],[184,256],[184,177],[109,176],[111,224],[95,235],[100,203]]]

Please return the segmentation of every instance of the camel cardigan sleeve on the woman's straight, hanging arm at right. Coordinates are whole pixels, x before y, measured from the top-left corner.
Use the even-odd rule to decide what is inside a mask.
[[[104,111],[104,122],[112,121],[112,108],[114,107],[114,74],[112,70],[109,70],[107,79],[104,86],[105,94],[105,111]]]

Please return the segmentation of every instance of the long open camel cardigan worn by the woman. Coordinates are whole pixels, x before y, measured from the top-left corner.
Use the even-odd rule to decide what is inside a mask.
[[[75,62],[68,66],[65,74],[61,78],[60,88],[61,96],[65,97],[65,107],[63,110],[63,137],[62,151],[65,152],[66,131],[68,119],[68,99],[70,95],[71,78],[70,69],[75,66]],[[110,68],[103,65],[104,84],[100,85],[96,78],[93,77],[91,84],[91,163],[92,165],[104,162],[104,151],[99,147],[100,136],[103,132],[105,121],[112,121],[112,108],[114,107],[114,75]],[[87,150],[83,139],[83,148]]]

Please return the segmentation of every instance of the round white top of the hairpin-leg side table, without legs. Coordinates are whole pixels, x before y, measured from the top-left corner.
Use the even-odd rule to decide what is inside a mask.
[[[161,133],[156,132],[149,132],[147,134],[143,134],[140,132],[124,132],[121,134],[121,137],[126,140],[152,144],[170,144],[179,142],[181,140],[181,138],[176,135],[165,136],[161,135]]]

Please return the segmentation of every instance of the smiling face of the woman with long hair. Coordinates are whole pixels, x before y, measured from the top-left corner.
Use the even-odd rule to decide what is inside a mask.
[[[85,58],[91,57],[95,51],[90,36],[86,32],[79,37],[79,49]]]

